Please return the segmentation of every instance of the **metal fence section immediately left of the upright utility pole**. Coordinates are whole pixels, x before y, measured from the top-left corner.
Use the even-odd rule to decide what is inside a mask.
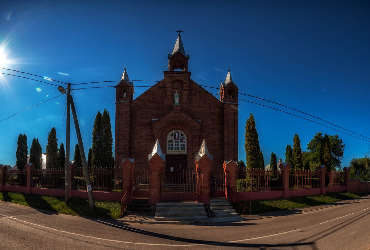
[[[64,168],[33,169],[31,186],[64,189],[65,169]]]

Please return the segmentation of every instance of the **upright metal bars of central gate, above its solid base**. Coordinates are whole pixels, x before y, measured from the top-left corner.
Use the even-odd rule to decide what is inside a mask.
[[[196,193],[197,175],[195,170],[175,170],[162,175],[163,193]]]

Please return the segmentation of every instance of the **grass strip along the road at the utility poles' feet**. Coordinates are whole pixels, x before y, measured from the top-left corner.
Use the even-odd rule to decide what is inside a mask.
[[[72,197],[69,204],[64,203],[64,197],[53,197],[46,195],[28,195],[26,193],[0,192],[0,200],[12,202],[19,205],[45,209],[52,212],[91,216],[90,203],[88,199]],[[97,218],[118,219],[121,213],[121,204],[112,200],[95,200]]]

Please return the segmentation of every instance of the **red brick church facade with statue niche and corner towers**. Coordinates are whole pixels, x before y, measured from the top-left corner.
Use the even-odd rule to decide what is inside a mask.
[[[219,99],[214,97],[191,80],[188,59],[180,51],[169,55],[170,71],[164,71],[164,79],[136,99],[131,82],[122,80],[117,85],[116,167],[122,159],[132,158],[135,169],[148,169],[148,154],[156,140],[166,154],[167,135],[175,129],[186,135],[187,168],[195,169],[195,154],[203,139],[213,155],[212,171],[221,170],[224,160],[238,160],[237,87],[233,82],[221,84]],[[175,91],[179,105],[175,105]]]

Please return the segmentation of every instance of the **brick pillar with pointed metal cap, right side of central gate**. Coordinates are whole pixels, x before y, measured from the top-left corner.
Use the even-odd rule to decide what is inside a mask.
[[[202,183],[197,186],[201,187],[201,190],[199,190],[201,193],[199,202],[202,202],[204,205],[208,205],[209,200],[211,199],[210,180],[212,161],[212,155],[209,154],[206,141],[203,139],[201,148],[199,149],[198,154],[195,155],[195,167],[198,175],[199,173],[202,173],[202,178],[197,178],[198,181],[201,181]]]

